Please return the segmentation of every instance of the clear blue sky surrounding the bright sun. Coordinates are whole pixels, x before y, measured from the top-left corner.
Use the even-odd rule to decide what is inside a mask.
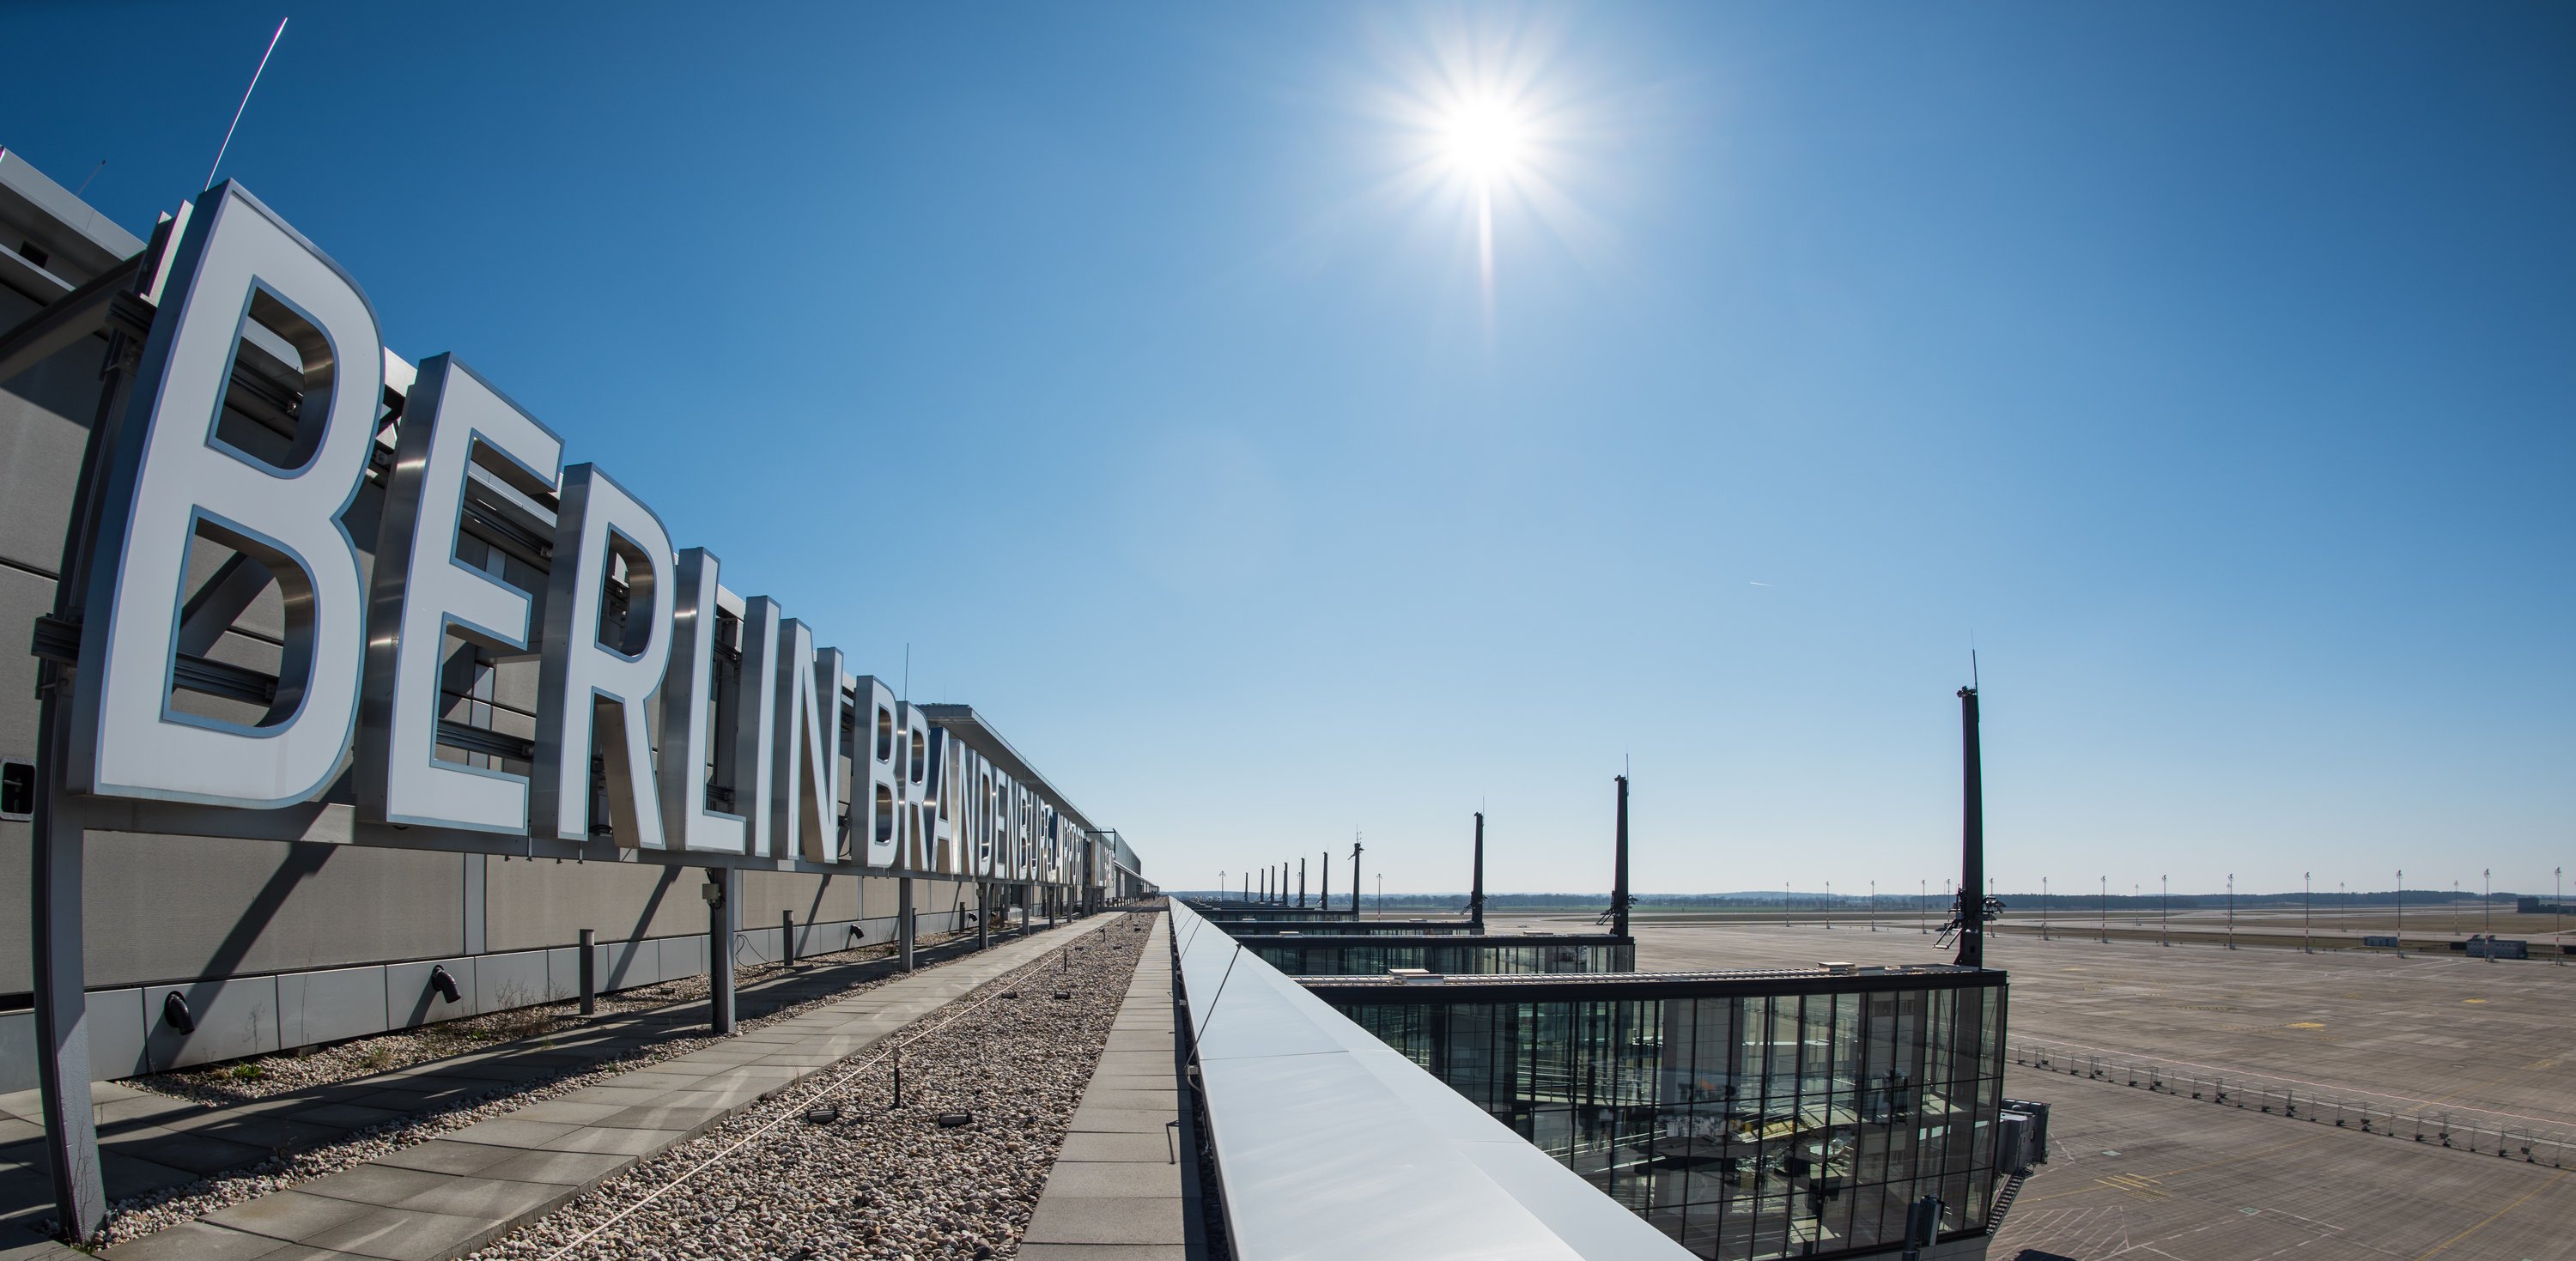
[[[2004,888],[2576,857],[2576,10],[286,13],[399,353],[1167,883],[1602,888],[1625,759],[1643,890],[1940,888],[1971,641]],[[144,232],[278,15],[13,5],[0,144]]]

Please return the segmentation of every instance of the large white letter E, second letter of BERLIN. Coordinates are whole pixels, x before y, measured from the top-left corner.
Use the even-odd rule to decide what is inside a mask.
[[[474,463],[523,494],[554,494],[564,440],[453,355],[435,355],[420,365],[394,476],[384,484],[358,723],[358,816],[515,836],[528,829],[528,780],[435,757],[448,633],[474,649],[528,651],[528,592],[456,558]]]

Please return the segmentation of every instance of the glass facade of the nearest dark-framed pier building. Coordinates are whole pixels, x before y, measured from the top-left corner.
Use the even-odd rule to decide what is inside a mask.
[[[2002,973],[1309,988],[1698,1256],[1986,1228]]]

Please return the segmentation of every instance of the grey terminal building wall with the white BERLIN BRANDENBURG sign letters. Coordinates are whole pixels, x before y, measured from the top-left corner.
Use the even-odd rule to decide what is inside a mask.
[[[556,1001],[585,929],[600,988],[701,975],[726,883],[744,965],[1151,888],[979,710],[737,594],[760,558],[652,538],[466,365],[376,345],[232,185],[147,239],[0,152],[0,1091],[36,1086],[44,932],[121,1078]],[[75,903],[31,924],[46,811]]]

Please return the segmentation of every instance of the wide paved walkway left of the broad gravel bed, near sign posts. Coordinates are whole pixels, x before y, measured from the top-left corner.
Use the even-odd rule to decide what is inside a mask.
[[[435,1261],[464,1256],[528,1220],[544,1217],[636,1161],[706,1132],[755,1099],[871,1047],[966,991],[1097,932],[1113,919],[1103,914],[1072,921],[1066,932],[1015,937],[987,952],[974,952],[969,942],[958,957],[940,968],[899,975],[850,999],[621,1073],[613,1081],[533,1101],[355,1168],[118,1243],[106,1256],[116,1261]],[[827,973],[827,968],[814,973]],[[817,975],[781,978],[762,991],[770,1001],[760,1009],[775,1011],[801,1001],[799,983],[811,996],[850,980],[850,975],[837,983]],[[737,1011],[750,1014],[752,1009],[737,1006]],[[703,1019],[698,1027],[703,1029]],[[440,1060],[440,1065],[453,1063]],[[368,1078],[368,1083],[376,1081]]]

